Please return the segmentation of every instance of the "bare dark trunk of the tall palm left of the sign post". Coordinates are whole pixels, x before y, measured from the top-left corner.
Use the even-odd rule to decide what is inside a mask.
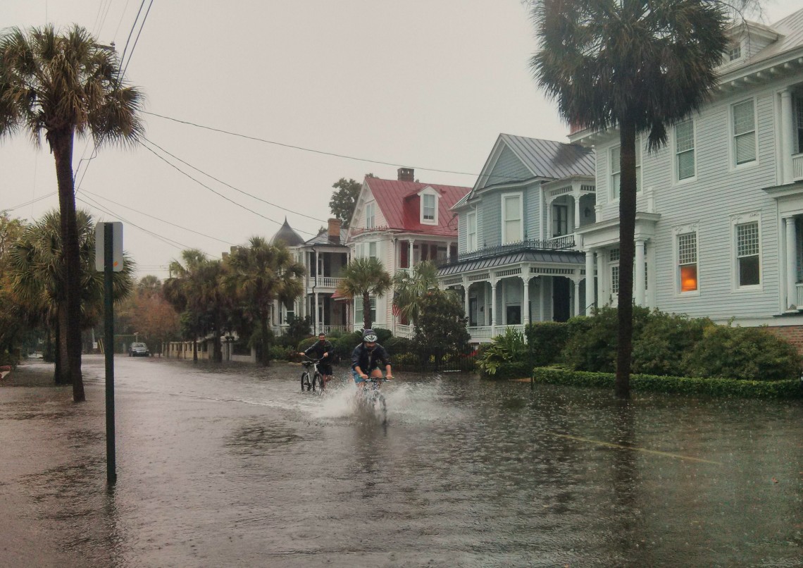
[[[81,376],[81,297],[78,227],[75,221],[75,185],[72,179],[72,128],[54,129],[47,133],[55,159],[55,174],[59,185],[62,254],[65,272],[67,321],[61,330],[66,336],[67,373],[72,382],[72,400],[86,400],[84,379]]]

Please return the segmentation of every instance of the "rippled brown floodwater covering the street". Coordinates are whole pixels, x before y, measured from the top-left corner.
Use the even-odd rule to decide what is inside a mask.
[[[803,566],[801,403],[115,364],[113,489],[102,358],[0,388],[0,566]]]

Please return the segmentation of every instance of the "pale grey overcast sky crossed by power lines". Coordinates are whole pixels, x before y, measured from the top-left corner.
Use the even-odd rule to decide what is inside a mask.
[[[765,6],[775,22],[801,0]],[[308,239],[340,178],[409,166],[421,182],[472,186],[499,133],[568,133],[532,79],[520,0],[0,2],[2,27],[46,22],[125,50],[128,83],[147,96],[150,149],[92,157],[79,139],[73,166],[77,205],[124,223],[138,277],[164,279],[185,248],[220,258],[270,238],[285,216]],[[55,208],[47,146],[0,142],[0,210]]]

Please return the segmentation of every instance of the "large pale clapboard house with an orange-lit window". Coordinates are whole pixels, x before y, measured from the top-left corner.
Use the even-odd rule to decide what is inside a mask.
[[[636,304],[803,329],[803,10],[732,30],[710,103],[666,147],[637,149]],[[570,141],[597,154],[596,222],[577,230],[598,304],[618,291],[619,133]],[[585,288],[585,304],[595,301]]]

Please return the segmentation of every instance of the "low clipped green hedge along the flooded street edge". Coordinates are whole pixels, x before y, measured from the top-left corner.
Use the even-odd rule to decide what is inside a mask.
[[[532,370],[533,382],[567,386],[597,386],[613,390],[616,375],[548,367]],[[644,392],[675,394],[709,394],[743,398],[803,398],[800,379],[782,381],[745,381],[732,378],[658,377],[650,374],[630,375],[630,389]]]

